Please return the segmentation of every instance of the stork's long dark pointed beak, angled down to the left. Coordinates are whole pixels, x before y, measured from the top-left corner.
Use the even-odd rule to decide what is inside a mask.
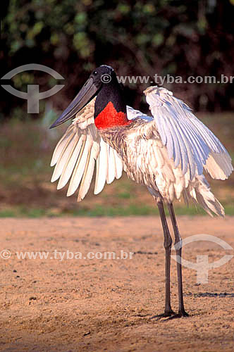
[[[63,122],[73,118],[82,108],[89,103],[95,95],[97,95],[97,88],[93,82],[92,77],[90,77],[87,82],[80,89],[80,92],[73,99],[73,101],[68,105],[62,115],[51,125],[49,128],[54,128],[61,125]]]

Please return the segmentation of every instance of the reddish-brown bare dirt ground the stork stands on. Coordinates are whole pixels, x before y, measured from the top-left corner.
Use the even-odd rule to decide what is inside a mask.
[[[233,351],[234,258],[197,284],[183,268],[189,318],[156,320],[164,310],[164,247],[157,217],[1,219],[1,351]],[[178,218],[183,238],[211,234],[234,248],[234,218]],[[104,252],[125,259],[85,259]],[[1,252],[8,256],[8,252]],[[19,259],[16,252],[49,252]],[[54,253],[54,251],[57,251]],[[71,258],[76,253],[76,258]],[[133,252],[133,258],[129,258]],[[61,260],[60,254],[64,253]],[[174,251],[173,251],[174,253]],[[183,258],[209,262],[233,251],[208,241]],[[56,256],[56,258],[55,258]],[[69,258],[68,258],[69,257]],[[176,262],[171,295],[178,308]]]

